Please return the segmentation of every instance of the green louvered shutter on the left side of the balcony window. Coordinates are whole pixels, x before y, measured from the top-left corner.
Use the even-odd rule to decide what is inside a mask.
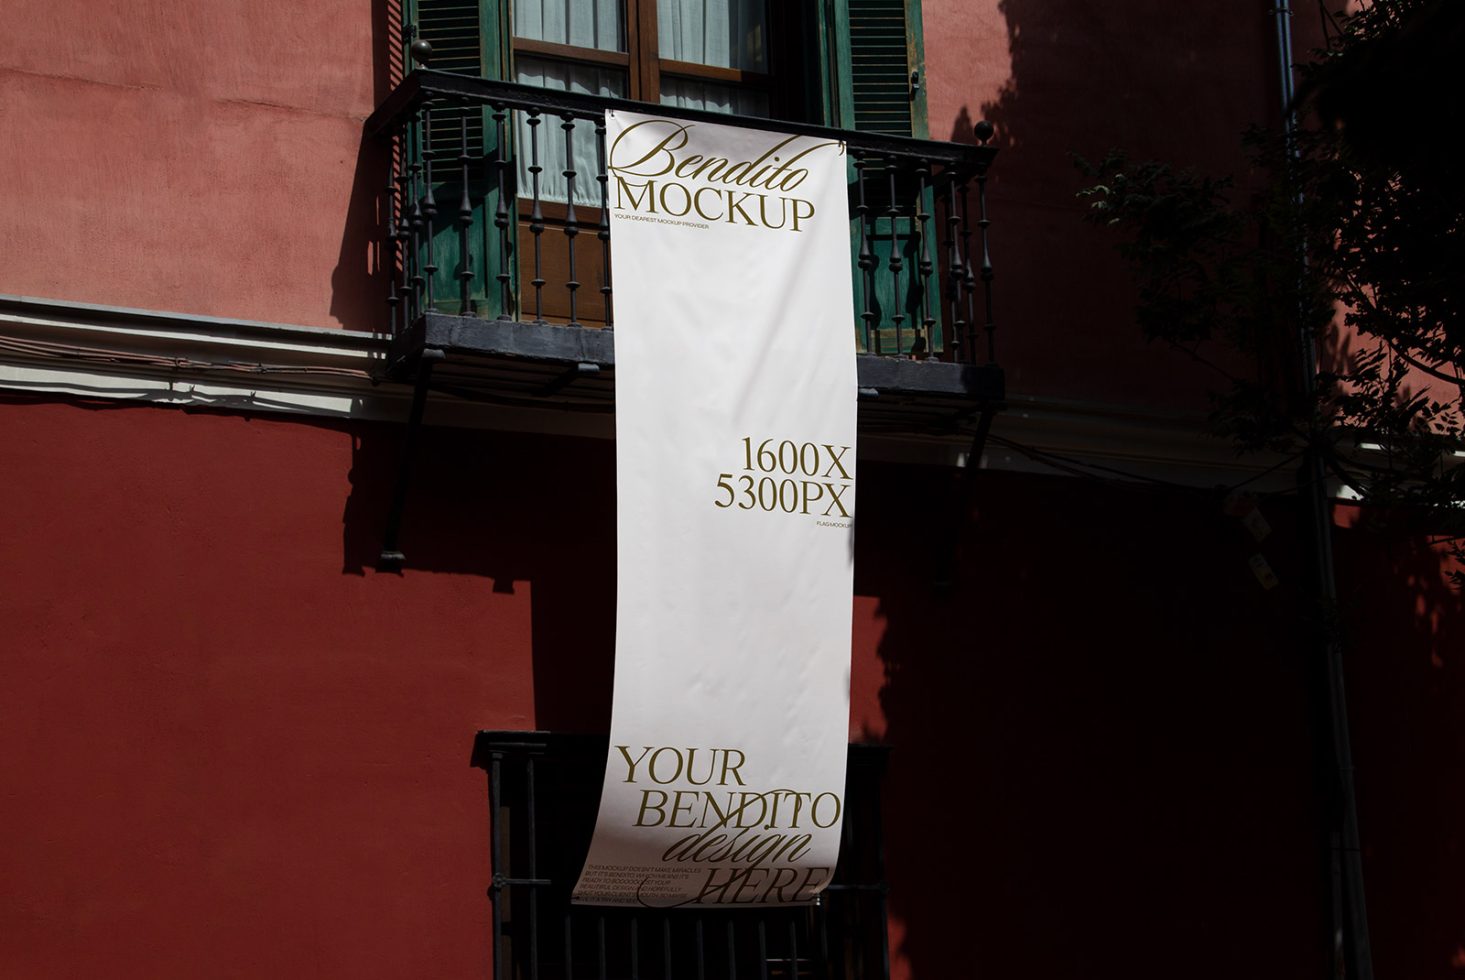
[[[507,4],[498,0],[407,0],[403,4],[406,26],[415,26],[418,37],[432,45],[429,67],[457,75],[501,78],[505,63],[502,44]],[[409,34],[403,32],[404,37]],[[409,64],[410,67],[410,64]],[[461,149],[463,130],[460,120],[467,120],[467,149],[473,157],[469,173],[469,205],[473,212],[469,226],[469,253],[461,255],[459,236],[459,208],[463,198]],[[505,125],[505,132],[510,127]],[[502,236],[494,224],[498,211],[498,185],[489,182],[483,157],[495,152],[497,126],[488,110],[448,108],[432,110],[431,133],[423,145],[412,152],[420,163],[432,161],[432,195],[437,201],[437,215],[432,221],[432,259],[437,272],[432,277],[432,296],[437,308],[445,313],[497,316],[513,313],[502,308],[502,290],[497,275],[508,268],[514,274],[511,259],[514,249],[516,221],[513,220],[513,168],[507,171],[505,193],[510,195],[508,249],[505,253]],[[510,139],[511,136],[505,136]],[[505,146],[505,154],[513,151]],[[511,157],[510,157],[511,158]],[[486,261],[485,261],[486,259]],[[470,309],[460,309],[459,272],[464,261],[473,272],[470,281]],[[517,294],[517,287],[510,296]]]

